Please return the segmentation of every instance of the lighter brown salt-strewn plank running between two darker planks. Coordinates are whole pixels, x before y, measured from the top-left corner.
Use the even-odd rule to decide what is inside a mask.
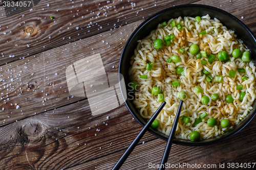
[[[83,100],[83,97],[73,98],[69,93],[67,67],[79,59],[100,53],[105,71],[117,72],[122,47],[139,23],[141,21],[0,67],[1,78],[5,80],[0,84],[3,98],[0,100],[0,127]]]

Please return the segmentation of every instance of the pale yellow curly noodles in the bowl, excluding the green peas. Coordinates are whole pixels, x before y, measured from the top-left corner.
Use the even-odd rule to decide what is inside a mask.
[[[133,103],[143,118],[151,118],[162,104],[162,102],[158,102],[157,95],[152,94],[152,88],[159,86],[162,89],[166,105],[157,117],[160,122],[157,130],[163,134],[169,135],[172,129],[180,102],[179,91],[183,90],[187,93],[180,116],[185,115],[190,117],[190,120],[188,124],[185,124],[179,119],[175,137],[180,139],[189,140],[190,133],[195,130],[201,133],[201,139],[222,134],[247,115],[248,111],[252,109],[251,105],[255,99],[255,66],[252,61],[246,63],[241,60],[241,57],[230,57],[231,62],[227,63],[216,58],[212,64],[209,62],[201,64],[201,60],[207,61],[207,59],[204,57],[196,59],[196,55],[189,53],[189,46],[193,43],[199,46],[199,52],[206,51],[208,55],[217,56],[219,52],[226,51],[231,56],[235,48],[240,49],[242,53],[248,51],[242,41],[236,38],[234,32],[223,26],[220,20],[210,19],[209,15],[201,18],[201,21],[197,22],[193,17],[184,17],[184,20],[179,17],[170,19],[166,26],[159,24],[150,35],[138,40],[138,45],[131,58],[132,66],[129,69],[130,79],[137,81],[140,85],[139,90],[134,92]],[[171,26],[170,22],[173,20],[176,23],[181,22],[182,29],[180,31],[177,27]],[[207,34],[199,36],[202,31],[206,31]],[[166,35],[171,34],[174,34],[172,44],[164,45],[160,50],[154,48],[156,39],[164,39]],[[179,51],[180,47],[185,50],[184,53]],[[181,62],[167,63],[166,60],[173,55],[179,56]],[[151,71],[145,69],[147,62],[154,62]],[[176,74],[178,66],[183,67],[184,76]],[[245,73],[237,71],[235,78],[228,77],[229,70],[237,70],[237,68],[244,68]],[[204,69],[210,72],[212,82],[205,80],[207,75],[201,76],[201,70]],[[140,79],[140,75],[147,75],[147,79]],[[223,82],[215,82],[216,76],[223,76]],[[241,79],[243,76],[248,79],[243,81]],[[176,80],[179,81],[180,86],[174,88],[172,82]],[[237,85],[243,85],[243,89],[237,90]],[[201,87],[203,92],[195,93],[195,86]],[[239,100],[240,92],[246,93],[243,101]],[[210,96],[213,93],[219,94],[218,100],[211,100]],[[229,94],[234,99],[234,102],[230,104],[225,100]],[[208,96],[210,100],[208,105],[201,103],[201,98],[204,95]],[[208,115],[194,127],[195,118],[204,112],[207,112]],[[209,118],[216,118],[218,124],[214,127],[208,126]],[[230,121],[227,128],[220,126],[220,121],[224,118]]]

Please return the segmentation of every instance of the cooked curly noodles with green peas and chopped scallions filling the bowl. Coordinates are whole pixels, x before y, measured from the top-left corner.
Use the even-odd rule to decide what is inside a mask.
[[[218,136],[252,109],[255,66],[250,52],[209,15],[159,23],[138,41],[130,64],[129,86],[140,115],[149,119],[166,102],[156,118],[159,126],[154,126],[165,135],[180,100],[184,103],[175,137],[186,140]]]

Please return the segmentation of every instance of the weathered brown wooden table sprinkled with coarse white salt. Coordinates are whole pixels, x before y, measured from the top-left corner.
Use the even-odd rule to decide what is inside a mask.
[[[0,169],[111,169],[115,165],[142,127],[124,104],[93,116],[87,98],[69,94],[65,70],[100,53],[105,71],[117,72],[126,40],[152,14],[174,5],[210,5],[238,17],[256,33],[255,1],[45,0],[11,17],[6,17],[2,3]],[[204,164],[219,169],[220,163],[225,168],[228,163],[254,163],[255,124],[256,117],[238,134],[216,144],[173,144],[168,163],[201,165],[194,169],[203,169]],[[165,145],[147,132],[121,169],[159,164]]]

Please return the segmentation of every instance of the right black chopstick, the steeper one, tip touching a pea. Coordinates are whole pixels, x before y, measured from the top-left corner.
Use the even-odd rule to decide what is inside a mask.
[[[168,142],[166,144],[166,147],[165,147],[165,150],[164,150],[164,153],[163,153],[163,157],[162,157],[162,161],[161,161],[159,170],[164,170],[165,169],[165,163],[168,160],[169,153],[170,153],[170,148],[172,148],[174,135],[175,135],[175,132],[176,132],[176,129],[177,129],[177,124],[178,124],[179,117],[180,117],[180,112],[181,112],[181,109],[182,109],[182,104],[183,104],[183,101],[180,101],[180,105],[179,105],[179,108],[178,108],[178,111],[177,111],[177,114],[176,114],[176,117],[175,117],[175,120],[174,120],[173,128],[170,131],[170,135],[169,135]]]

